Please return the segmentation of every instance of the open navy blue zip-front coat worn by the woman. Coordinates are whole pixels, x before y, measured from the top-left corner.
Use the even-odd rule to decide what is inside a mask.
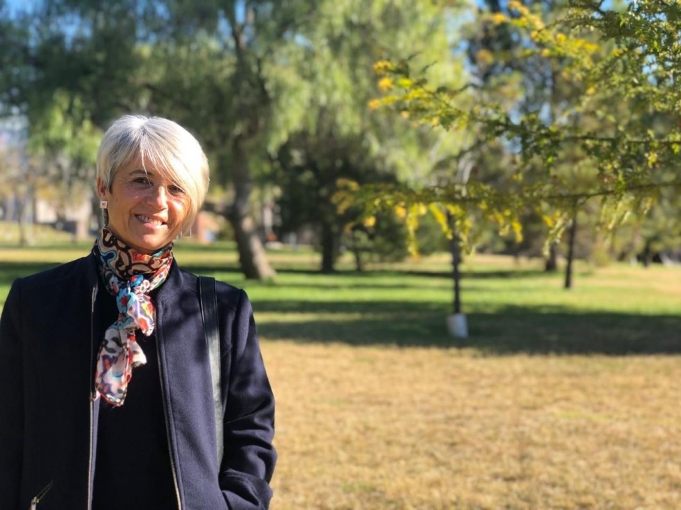
[[[96,466],[90,255],[17,279],[0,318],[0,509],[89,510]],[[216,460],[211,376],[195,275],[174,263],[156,295],[156,335],[181,510],[264,509],[276,462],[274,396],[246,293],[217,283],[223,463]]]

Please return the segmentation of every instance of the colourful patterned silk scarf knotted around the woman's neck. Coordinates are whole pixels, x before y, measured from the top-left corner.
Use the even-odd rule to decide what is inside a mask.
[[[149,292],[165,281],[172,264],[172,244],[153,255],[126,245],[104,227],[93,253],[107,291],[116,297],[119,316],[107,327],[97,355],[95,386],[98,396],[111,405],[123,405],[133,368],[147,363],[136,330],[149,337],[154,332],[154,304]]]

